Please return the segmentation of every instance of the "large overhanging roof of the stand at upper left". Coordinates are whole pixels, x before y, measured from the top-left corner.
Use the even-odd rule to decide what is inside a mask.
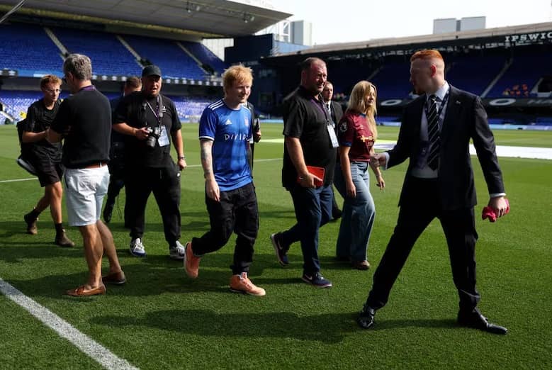
[[[18,2],[0,0],[0,11],[9,11]],[[203,38],[252,35],[291,16],[266,7],[226,0],[27,0],[16,12],[21,13],[110,26],[119,23],[125,28],[152,28],[174,33],[187,30]]]

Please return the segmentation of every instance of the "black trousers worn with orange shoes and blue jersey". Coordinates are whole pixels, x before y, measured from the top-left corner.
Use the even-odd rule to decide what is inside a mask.
[[[230,268],[233,274],[248,272],[259,232],[259,209],[253,183],[235,190],[220,191],[220,202],[205,195],[205,204],[210,230],[202,237],[192,239],[193,253],[201,255],[220,250],[235,232],[234,262]]]

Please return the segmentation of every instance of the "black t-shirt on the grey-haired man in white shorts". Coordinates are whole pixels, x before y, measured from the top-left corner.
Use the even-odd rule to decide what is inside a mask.
[[[52,123],[64,135],[62,162],[67,168],[84,168],[109,160],[111,108],[93,85],[64,99]]]

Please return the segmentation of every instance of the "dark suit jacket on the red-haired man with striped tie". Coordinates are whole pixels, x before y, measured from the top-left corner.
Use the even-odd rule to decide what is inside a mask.
[[[410,158],[399,205],[409,197],[419,196],[409,191],[409,179],[416,165],[420,146],[420,126],[425,95],[405,107],[397,145],[388,152],[388,168]],[[502,172],[495,152],[495,139],[489,128],[487,113],[478,96],[450,86],[449,101],[441,128],[438,188],[444,210],[472,208],[477,204],[473,169],[469,152],[470,139],[477,151],[489,194],[504,193]]]

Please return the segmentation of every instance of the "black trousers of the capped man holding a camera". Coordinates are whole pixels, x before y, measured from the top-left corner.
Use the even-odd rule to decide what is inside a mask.
[[[129,169],[125,174],[125,226],[133,239],[144,235],[147,198],[153,192],[163,220],[165,240],[180,239],[180,172],[176,166]]]

